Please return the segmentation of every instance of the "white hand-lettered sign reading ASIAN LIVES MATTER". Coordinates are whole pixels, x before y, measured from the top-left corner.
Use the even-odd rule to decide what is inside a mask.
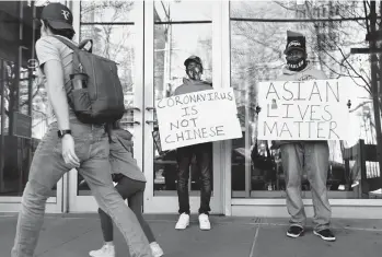
[[[347,140],[349,80],[273,81],[258,86],[258,139]]]

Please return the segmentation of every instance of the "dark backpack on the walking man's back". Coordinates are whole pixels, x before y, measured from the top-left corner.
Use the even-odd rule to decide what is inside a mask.
[[[120,119],[125,113],[125,104],[117,63],[92,54],[93,42],[90,39],[76,46],[69,39],[54,37],[73,50],[72,73],[88,75],[85,87],[71,86],[68,92],[68,102],[77,118],[84,124],[111,124]],[[89,42],[92,44],[89,51],[82,49]]]

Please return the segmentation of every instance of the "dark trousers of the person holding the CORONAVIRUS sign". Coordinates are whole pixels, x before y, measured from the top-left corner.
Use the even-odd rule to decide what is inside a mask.
[[[189,165],[193,156],[196,157],[197,167],[200,172],[200,208],[199,213],[206,213],[211,210],[209,202],[212,191],[211,164],[212,164],[212,143],[201,143],[177,149],[177,197],[180,201],[180,213],[189,214],[188,179]]]

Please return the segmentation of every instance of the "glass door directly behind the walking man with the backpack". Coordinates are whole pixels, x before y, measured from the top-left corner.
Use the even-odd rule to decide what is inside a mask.
[[[94,54],[118,63],[126,107],[121,125],[134,135],[134,156],[142,166],[143,2],[73,1],[72,4],[73,16],[78,17],[78,40],[92,38]],[[69,173],[68,185],[67,211],[97,210],[89,186],[77,170]]]

